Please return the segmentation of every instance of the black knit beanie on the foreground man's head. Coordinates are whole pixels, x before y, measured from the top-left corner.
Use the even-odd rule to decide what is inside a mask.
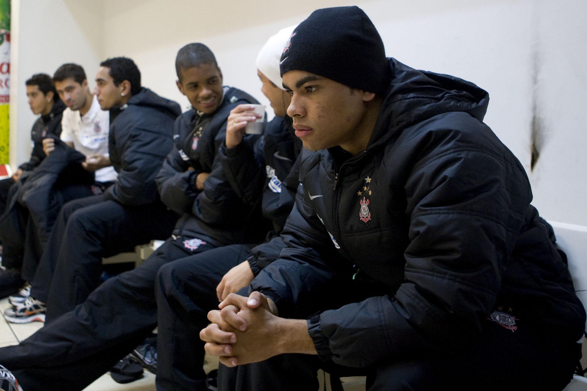
[[[281,75],[290,70],[374,93],[384,91],[388,82],[383,41],[357,6],[317,9],[300,23],[281,55]]]

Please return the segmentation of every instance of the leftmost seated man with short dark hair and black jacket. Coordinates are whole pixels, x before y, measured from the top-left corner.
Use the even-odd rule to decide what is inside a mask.
[[[41,115],[41,117],[37,118],[31,129],[33,143],[31,158],[28,162],[18,167],[18,170],[12,174],[12,178],[0,181],[0,215],[6,209],[9,189],[11,189],[12,185],[18,182],[23,172],[32,171],[45,159],[43,138],[47,135],[59,137],[61,134],[61,118],[63,110],[65,110],[65,104],[59,99],[51,77],[45,73],[33,74],[31,79],[25,81],[25,84],[26,96],[29,98],[31,111],[35,115]],[[24,216],[22,217],[23,219],[25,218]],[[23,222],[23,224],[26,224],[26,222]],[[9,270],[3,268],[0,271],[0,297],[14,293],[24,283],[21,278],[20,267],[13,268],[18,264],[18,262],[14,262],[14,258],[18,259],[18,256],[11,257],[9,252],[10,249],[8,249],[3,262],[3,266],[8,266]]]

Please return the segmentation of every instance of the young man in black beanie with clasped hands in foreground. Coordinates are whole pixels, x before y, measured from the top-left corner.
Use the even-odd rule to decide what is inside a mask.
[[[487,92],[386,59],[356,6],[313,12],[281,73],[314,152],[286,249],[210,312],[207,351],[318,354],[369,390],[563,389],[585,311]]]

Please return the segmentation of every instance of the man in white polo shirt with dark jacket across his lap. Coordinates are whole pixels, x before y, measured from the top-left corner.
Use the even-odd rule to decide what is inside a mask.
[[[96,98],[92,97],[83,68],[77,64],[63,64],[53,75],[53,83],[60,101],[68,107],[62,111],[60,123],[55,117],[52,120],[49,118],[56,132],[39,129],[38,134],[35,134],[38,143],[33,153],[38,157],[49,155],[55,149],[55,137],[59,136],[66,145],[87,157],[107,156],[109,113],[102,110]],[[35,93],[32,86],[27,87],[29,89]],[[57,109],[59,106],[61,104],[55,105]],[[89,175],[84,175],[85,170],[75,169],[79,162],[72,161],[69,164],[65,160],[66,157],[59,154],[45,162],[42,169],[35,170],[34,178],[26,178],[26,189],[15,186],[11,198],[7,200],[6,213],[0,224],[0,237],[4,245],[5,266],[17,271],[22,269],[22,280],[16,274],[20,282],[16,285],[31,281],[35,275],[61,206],[72,199],[100,194],[116,179],[116,171],[111,166],[104,166],[97,171],[96,168],[86,166],[94,177],[88,179]],[[88,174],[87,171],[85,174]],[[23,195],[25,190],[26,197]],[[32,198],[30,205],[23,202],[23,198]],[[8,289],[4,278],[1,280],[6,293],[18,290],[18,286]],[[22,302],[29,292],[30,285],[12,297],[11,301]]]

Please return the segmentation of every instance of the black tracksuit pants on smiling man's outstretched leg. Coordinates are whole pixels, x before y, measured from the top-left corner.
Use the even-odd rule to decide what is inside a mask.
[[[107,372],[157,325],[154,285],[164,264],[214,246],[189,248],[171,237],[134,270],[106,280],[75,310],[20,345],[0,348],[0,363],[25,390],[79,391]],[[161,362],[161,358],[159,358]]]

